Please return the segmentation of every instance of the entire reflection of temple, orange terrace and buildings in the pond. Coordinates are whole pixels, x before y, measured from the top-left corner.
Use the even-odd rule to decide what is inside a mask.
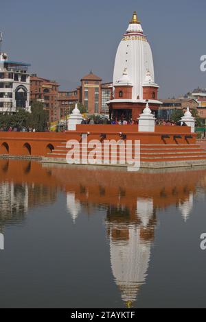
[[[190,175],[189,175],[190,174]],[[93,208],[105,210],[111,271],[126,306],[133,306],[146,282],[157,210],[176,206],[190,218],[194,195],[205,191],[206,170],[126,173],[120,169],[47,165],[0,160],[0,230],[24,219],[39,204],[66,195],[74,224]]]

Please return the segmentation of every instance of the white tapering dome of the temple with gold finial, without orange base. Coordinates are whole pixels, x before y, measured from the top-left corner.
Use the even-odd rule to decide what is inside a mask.
[[[122,71],[126,71],[128,83],[133,84],[132,99],[142,100],[143,86],[150,75],[150,83],[155,84],[155,72],[150,44],[143,33],[136,12],[128,25],[126,34],[117,49],[113,73],[113,86],[120,83]],[[159,87],[159,86],[157,86]]]

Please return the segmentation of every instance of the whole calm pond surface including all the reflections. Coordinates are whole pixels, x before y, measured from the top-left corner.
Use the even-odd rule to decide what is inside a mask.
[[[205,197],[206,169],[0,160],[0,307],[206,307]]]

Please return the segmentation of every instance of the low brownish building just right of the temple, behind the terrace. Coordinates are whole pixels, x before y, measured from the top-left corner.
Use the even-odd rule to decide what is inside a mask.
[[[160,119],[169,120],[174,110],[185,110],[189,106],[190,110],[198,108],[195,99],[161,99],[162,106],[159,107],[158,117]]]

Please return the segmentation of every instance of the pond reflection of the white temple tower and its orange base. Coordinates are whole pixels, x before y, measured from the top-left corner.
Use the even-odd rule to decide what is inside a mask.
[[[146,281],[155,223],[153,203],[148,200],[147,205],[146,199],[137,200],[135,214],[117,208],[109,208],[107,213],[111,269],[128,307],[137,299],[139,288]]]

